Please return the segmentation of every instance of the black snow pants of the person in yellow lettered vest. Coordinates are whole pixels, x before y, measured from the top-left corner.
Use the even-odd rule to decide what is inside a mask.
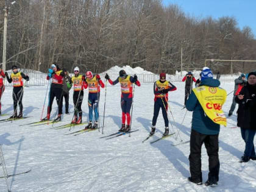
[[[201,148],[204,143],[208,154],[209,173],[208,180],[219,181],[219,142],[218,135],[204,135],[191,130],[190,135],[190,174],[191,179],[202,182]]]

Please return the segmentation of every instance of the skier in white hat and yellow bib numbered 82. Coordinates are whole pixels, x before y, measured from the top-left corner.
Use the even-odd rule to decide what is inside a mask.
[[[72,123],[80,124],[82,123],[82,102],[84,99],[84,80],[85,76],[79,74],[79,68],[76,66],[74,68],[74,76],[71,78],[71,82],[66,82],[67,87],[70,89],[72,84],[74,85],[74,93],[73,93],[73,102],[74,102],[74,119]],[[79,114],[79,118],[77,119],[77,113]]]

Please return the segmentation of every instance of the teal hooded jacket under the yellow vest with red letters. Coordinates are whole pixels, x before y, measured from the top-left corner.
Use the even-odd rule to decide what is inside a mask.
[[[200,86],[205,85],[208,87],[219,87],[220,84],[221,83],[217,79],[205,79],[202,80]],[[194,91],[191,91],[190,97],[186,102],[186,108],[190,112],[193,112],[192,129],[205,135],[219,134],[219,124],[214,123],[212,119],[205,115],[201,104],[194,94]]]

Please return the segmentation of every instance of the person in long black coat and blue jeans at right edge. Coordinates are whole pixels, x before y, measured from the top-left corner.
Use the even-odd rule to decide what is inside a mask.
[[[240,162],[256,160],[254,136],[256,133],[256,72],[248,74],[246,85],[236,96],[238,103],[237,126],[241,127],[241,135],[246,143],[244,155]]]

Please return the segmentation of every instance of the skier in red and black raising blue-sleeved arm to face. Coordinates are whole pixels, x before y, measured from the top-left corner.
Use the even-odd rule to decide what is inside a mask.
[[[49,93],[49,104],[47,110],[47,116],[43,120],[49,120],[52,111],[52,103],[54,98],[56,97],[57,105],[59,108],[59,115],[57,116],[54,121],[60,121],[62,116],[62,94],[63,94],[63,79],[65,77],[65,73],[60,70],[57,64],[52,64],[51,68],[48,69],[48,76],[46,77],[47,80],[52,79],[51,90]]]

